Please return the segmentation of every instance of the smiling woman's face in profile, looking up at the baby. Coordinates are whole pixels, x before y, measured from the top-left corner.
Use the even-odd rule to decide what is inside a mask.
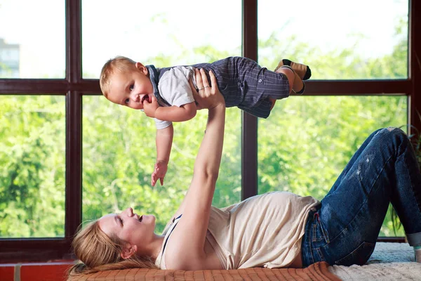
[[[152,242],[154,237],[155,216],[139,216],[133,213],[131,207],[122,211],[120,214],[102,216],[98,223],[105,234],[108,236],[114,234],[121,240],[138,246],[138,251],[145,248],[142,245]]]

